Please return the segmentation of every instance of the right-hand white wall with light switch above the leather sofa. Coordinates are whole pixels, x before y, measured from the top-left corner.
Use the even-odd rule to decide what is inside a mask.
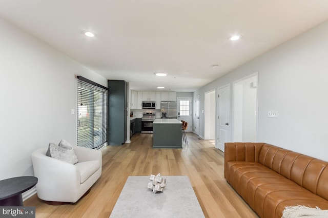
[[[203,93],[259,72],[258,141],[328,161],[327,48],[328,21],[202,87],[194,96],[200,95],[202,110]],[[269,110],[277,110],[278,118],[268,118]]]

